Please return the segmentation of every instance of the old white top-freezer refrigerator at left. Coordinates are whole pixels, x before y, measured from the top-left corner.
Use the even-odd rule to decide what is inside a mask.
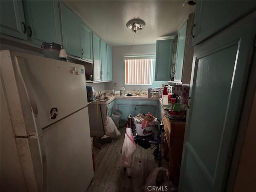
[[[83,65],[1,51],[1,191],[85,192],[93,177]]]

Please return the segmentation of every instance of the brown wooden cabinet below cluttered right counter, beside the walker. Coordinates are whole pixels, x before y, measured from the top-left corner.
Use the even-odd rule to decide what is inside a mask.
[[[165,141],[167,142],[164,144],[164,155],[169,154],[169,179],[178,187],[186,123],[171,121],[164,116],[164,112],[163,110],[162,121],[164,124]]]

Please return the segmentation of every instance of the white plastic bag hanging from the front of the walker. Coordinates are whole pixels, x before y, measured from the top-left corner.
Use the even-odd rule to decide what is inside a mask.
[[[132,128],[126,128],[126,133],[124,136],[124,143],[121,155],[121,166],[130,168],[132,165],[133,155],[136,149],[136,144],[134,142],[134,137],[132,134]]]

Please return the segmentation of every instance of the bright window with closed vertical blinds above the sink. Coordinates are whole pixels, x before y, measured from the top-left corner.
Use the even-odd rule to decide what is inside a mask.
[[[125,56],[125,84],[151,85],[154,56]]]

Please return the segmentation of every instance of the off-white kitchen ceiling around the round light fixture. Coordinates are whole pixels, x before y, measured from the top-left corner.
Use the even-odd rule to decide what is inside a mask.
[[[63,2],[111,46],[154,44],[160,37],[175,35],[188,14],[195,10],[195,6],[188,5],[188,1],[184,0]],[[146,26],[135,36],[126,28],[126,23],[134,18],[146,22]]]

